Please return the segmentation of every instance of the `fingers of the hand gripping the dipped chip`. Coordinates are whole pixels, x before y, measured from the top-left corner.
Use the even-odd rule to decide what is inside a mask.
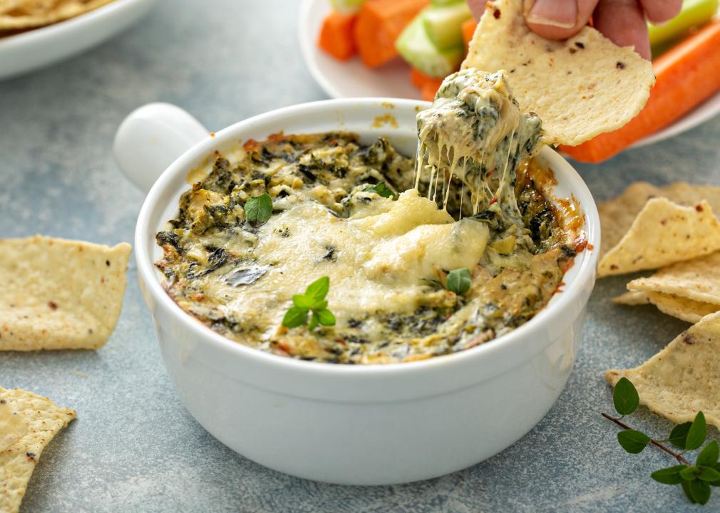
[[[477,19],[485,12],[485,0],[467,0]],[[675,17],[683,0],[526,0],[525,21],[537,35],[562,40],[575,35],[588,19],[619,46],[634,46],[650,58],[646,18],[651,23]]]

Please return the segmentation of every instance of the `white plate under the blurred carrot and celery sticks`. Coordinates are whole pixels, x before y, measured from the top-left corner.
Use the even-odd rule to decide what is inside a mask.
[[[333,98],[390,96],[420,99],[420,91],[410,83],[410,67],[400,58],[377,69],[366,68],[357,57],[340,61],[318,48],[318,34],[323,19],[330,12],[329,0],[303,0],[298,19],[300,50],[310,73]],[[671,124],[634,143],[639,147],[674,137],[706,122],[720,113],[720,92],[698,105]]]

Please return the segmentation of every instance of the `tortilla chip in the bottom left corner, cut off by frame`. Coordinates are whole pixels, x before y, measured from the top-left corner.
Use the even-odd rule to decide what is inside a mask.
[[[0,430],[9,430],[0,434],[0,512],[19,510],[45,445],[75,417],[47,397],[0,388]]]

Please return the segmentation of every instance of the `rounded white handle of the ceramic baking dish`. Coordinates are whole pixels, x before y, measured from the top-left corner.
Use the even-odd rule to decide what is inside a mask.
[[[147,104],[120,124],[113,153],[125,177],[147,193],[168,165],[205,137],[210,132],[179,106]]]

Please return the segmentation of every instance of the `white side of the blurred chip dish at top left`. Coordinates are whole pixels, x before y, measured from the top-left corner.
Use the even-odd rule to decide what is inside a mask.
[[[0,80],[81,53],[129,27],[157,0],[115,0],[64,22],[0,38]]]

